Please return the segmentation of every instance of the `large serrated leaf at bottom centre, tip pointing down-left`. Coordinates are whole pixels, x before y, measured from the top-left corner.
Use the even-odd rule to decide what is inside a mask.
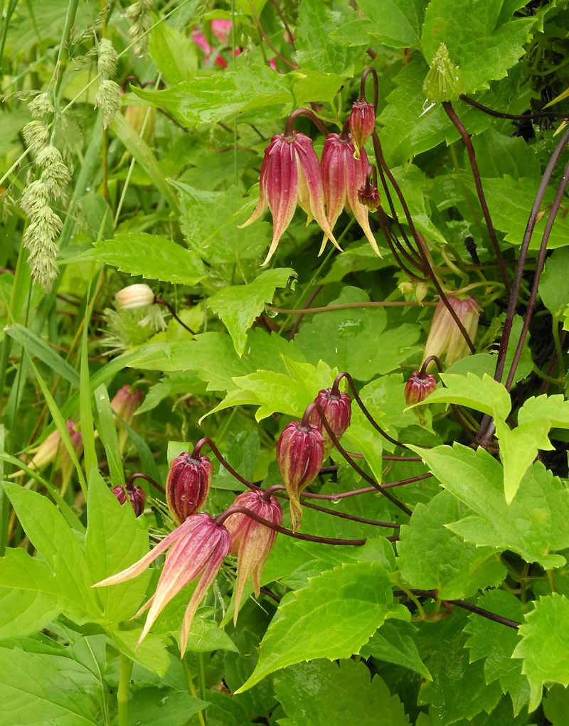
[[[393,604],[385,569],[353,563],[314,577],[284,598],[261,642],[253,675],[237,693],[274,671],[311,658],[349,658],[388,617],[405,619]]]

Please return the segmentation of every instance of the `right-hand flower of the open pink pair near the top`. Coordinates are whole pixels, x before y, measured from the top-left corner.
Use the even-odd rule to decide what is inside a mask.
[[[351,134],[328,134],[322,150],[321,165],[329,226],[334,228],[344,208],[347,212],[353,212],[374,253],[381,257],[369,227],[369,208],[361,203],[358,195],[361,187],[366,187],[369,167],[367,154],[364,149],[360,149],[359,158],[355,155],[356,148]],[[320,253],[324,250],[328,239],[329,234],[324,229]]]

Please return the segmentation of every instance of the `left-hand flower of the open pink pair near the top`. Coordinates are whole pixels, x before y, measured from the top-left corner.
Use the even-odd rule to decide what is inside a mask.
[[[290,136],[273,136],[265,150],[260,182],[258,204],[250,218],[240,227],[247,227],[257,221],[267,207],[271,210],[273,239],[263,265],[274,255],[297,204],[306,212],[307,224],[315,219],[324,230],[326,240],[332,240],[341,250],[324,211],[322,171],[312,147],[312,139],[298,131],[292,131]]]

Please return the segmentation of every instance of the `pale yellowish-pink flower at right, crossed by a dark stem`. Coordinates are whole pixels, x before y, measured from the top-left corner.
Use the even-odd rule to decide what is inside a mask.
[[[460,322],[464,325],[470,340],[474,342],[478,331],[478,318],[482,308],[470,295],[467,298],[448,296],[451,307],[457,313]],[[446,354],[445,363],[451,366],[453,363],[465,358],[470,354],[470,348],[446,305],[439,300],[433,315],[433,322],[430,324],[423,361],[430,356],[437,356],[439,359]]]

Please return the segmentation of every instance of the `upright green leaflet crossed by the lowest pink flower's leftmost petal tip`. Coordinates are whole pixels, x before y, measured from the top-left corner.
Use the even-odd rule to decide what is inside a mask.
[[[89,479],[85,556],[93,582],[100,582],[144,557],[148,533],[144,518],[136,518],[128,499],[118,499],[96,470]],[[134,616],[150,582],[150,571],[112,587],[94,592],[103,603],[105,621],[118,623]]]

